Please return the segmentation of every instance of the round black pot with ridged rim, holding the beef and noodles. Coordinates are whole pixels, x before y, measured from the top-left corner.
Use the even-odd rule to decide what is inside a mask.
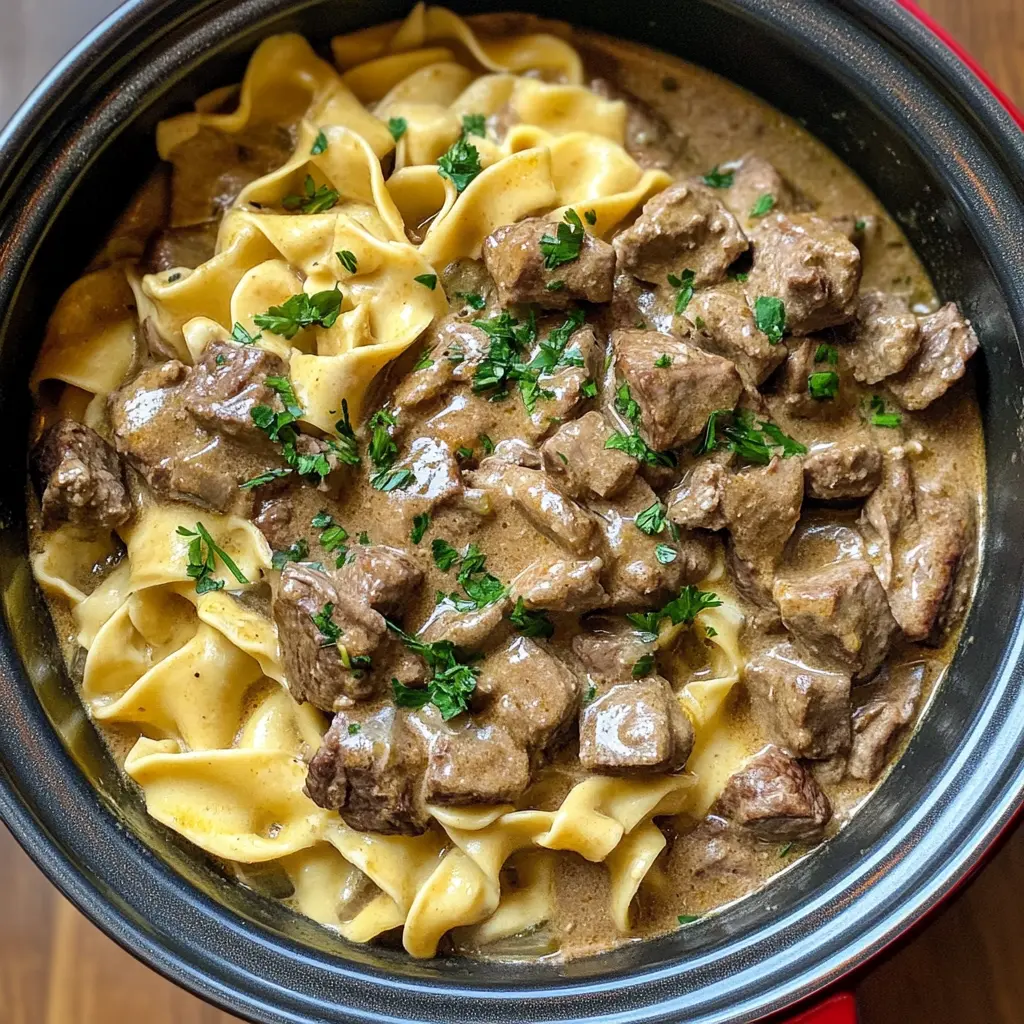
[[[23,512],[27,380],[53,302],[152,168],[160,118],[238,80],[263,36],[326,42],[408,6],[132,0],[0,136],[0,813],[118,942],[254,1021],[757,1019],[921,919],[978,864],[1024,793],[1024,136],[891,0],[511,4],[669,50],[798,118],[881,197],[981,337],[988,518],[966,640],[906,755],[838,838],[763,893],[664,939],[564,967],[412,962],[350,946],[229,884],[148,819],[65,678]]]

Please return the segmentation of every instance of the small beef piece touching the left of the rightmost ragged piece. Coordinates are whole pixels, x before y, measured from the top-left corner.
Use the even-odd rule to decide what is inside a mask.
[[[850,325],[845,362],[862,384],[898,374],[921,348],[918,317],[906,300],[886,292],[861,292]]]

